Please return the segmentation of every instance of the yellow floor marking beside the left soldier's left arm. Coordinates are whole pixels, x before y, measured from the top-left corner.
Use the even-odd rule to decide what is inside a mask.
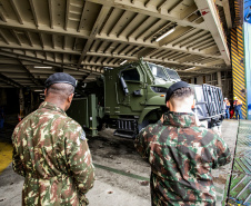
[[[6,169],[12,161],[13,147],[9,143],[0,143],[0,174]]]

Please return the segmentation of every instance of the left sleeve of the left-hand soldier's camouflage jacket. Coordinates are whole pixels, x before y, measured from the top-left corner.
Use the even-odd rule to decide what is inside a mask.
[[[20,148],[20,143],[17,139],[17,130],[14,130],[12,135],[12,144],[13,144],[13,154],[12,154],[12,167],[14,173],[26,177],[26,170],[23,168],[23,164],[20,159],[20,155],[18,154],[18,148]]]

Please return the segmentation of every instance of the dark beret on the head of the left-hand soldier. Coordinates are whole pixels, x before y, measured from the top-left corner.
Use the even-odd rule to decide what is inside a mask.
[[[64,72],[57,72],[51,75],[44,82],[46,88],[50,87],[53,84],[69,84],[73,87],[77,87],[77,80],[70,76],[69,73]]]

